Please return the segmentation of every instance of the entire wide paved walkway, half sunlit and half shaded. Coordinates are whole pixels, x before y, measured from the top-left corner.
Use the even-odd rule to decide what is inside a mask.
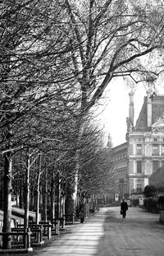
[[[164,225],[158,220],[158,214],[130,207],[123,223],[120,207],[104,207],[30,255],[162,256]]]

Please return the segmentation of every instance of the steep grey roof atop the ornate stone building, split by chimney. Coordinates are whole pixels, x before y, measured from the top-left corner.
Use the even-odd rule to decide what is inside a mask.
[[[144,104],[139,113],[139,119],[137,119],[134,127],[135,131],[149,131],[151,128],[148,127],[148,111],[147,111],[148,97],[144,97]],[[164,114],[164,96],[157,95],[152,100],[152,124],[157,122]]]

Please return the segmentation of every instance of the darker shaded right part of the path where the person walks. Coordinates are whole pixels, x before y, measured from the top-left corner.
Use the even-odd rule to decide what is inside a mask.
[[[163,230],[157,215],[141,209],[129,209],[125,223],[120,207],[105,213],[103,235],[94,256],[162,256]]]

